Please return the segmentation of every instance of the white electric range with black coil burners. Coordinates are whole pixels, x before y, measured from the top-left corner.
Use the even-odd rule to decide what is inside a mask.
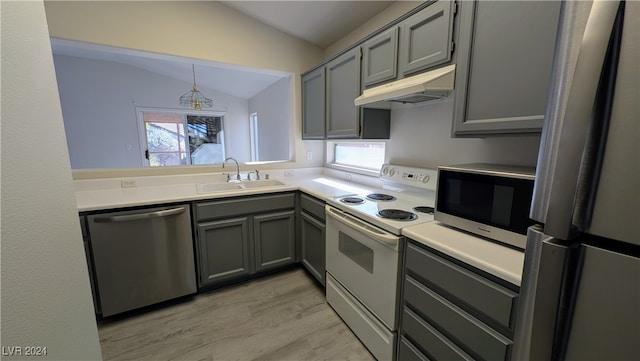
[[[327,202],[327,302],[378,360],[395,358],[402,228],[433,221],[437,170],[385,164],[381,187]]]

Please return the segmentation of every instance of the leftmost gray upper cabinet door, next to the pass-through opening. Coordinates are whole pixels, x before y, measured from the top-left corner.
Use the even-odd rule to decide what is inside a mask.
[[[324,73],[324,67],[320,67],[302,76],[302,139],[325,137]]]

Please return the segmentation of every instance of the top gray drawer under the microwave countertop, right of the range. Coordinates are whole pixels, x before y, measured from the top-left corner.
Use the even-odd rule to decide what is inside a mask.
[[[463,308],[480,312],[512,330],[518,294],[414,244],[407,248],[407,272],[449,295]]]

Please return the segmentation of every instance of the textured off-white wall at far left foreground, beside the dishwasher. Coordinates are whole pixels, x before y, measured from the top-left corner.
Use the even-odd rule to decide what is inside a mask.
[[[38,360],[98,360],[43,3],[3,1],[1,24],[2,348],[47,347],[30,358]]]

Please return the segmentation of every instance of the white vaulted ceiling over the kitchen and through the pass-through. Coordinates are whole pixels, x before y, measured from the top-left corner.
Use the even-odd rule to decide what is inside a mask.
[[[394,1],[221,1],[245,15],[321,48],[335,43],[367,22]],[[135,66],[182,81],[191,81],[191,61],[136,51],[114,51],[108,47],[78,46],[52,41],[53,53]],[[255,72],[196,64],[198,86],[249,99],[282,78],[277,72]],[[185,75],[186,74],[186,75]],[[215,81],[209,81],[215,79]]]

